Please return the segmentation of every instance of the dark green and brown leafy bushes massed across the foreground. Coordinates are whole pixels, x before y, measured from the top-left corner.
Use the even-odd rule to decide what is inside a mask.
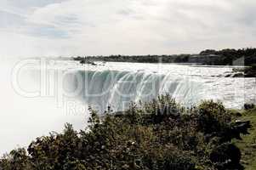
[[[67,124],[63,133],[3,156],[0,169],[243,169],[242,152],[231,140],[242,139],[251,125],[236,121],[241,113],[221,103],[185,109],[166,95],[119,113],[109,109],[103,117],[90,113],[85,130]]]

